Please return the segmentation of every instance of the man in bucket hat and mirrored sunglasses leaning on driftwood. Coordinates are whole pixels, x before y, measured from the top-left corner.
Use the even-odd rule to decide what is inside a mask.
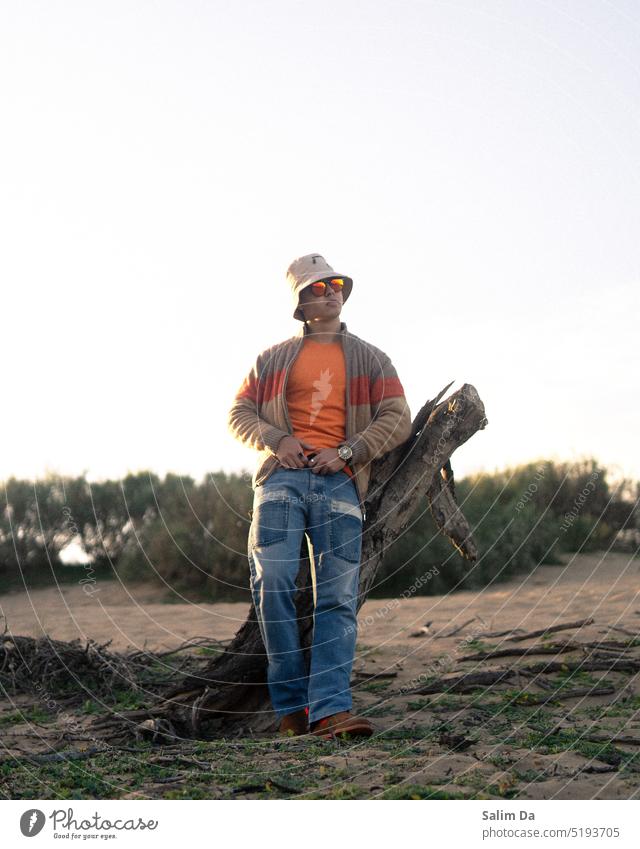
[[[371,461],[405,442],[411,413],[389,357],[340,321],[353,280],[320,254],[287,271],[299,333],[267,348],[229,412],[260,452],[248,557],[280,733],[369,736],[351,714],[362,523]],[[307,671],[294,597],[303,535],[314,575]]]

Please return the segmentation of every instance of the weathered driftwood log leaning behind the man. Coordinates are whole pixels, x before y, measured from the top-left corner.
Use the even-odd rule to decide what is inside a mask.
[[[442,400],[451,384],[428,401],[416,416],[409,439],[372,464],[363,526],[358,610],[376,579],[384,553],[407,527],[423,498],[437,526],[452,545],[473,562],[477,549],[469,524],[455,501],[450,457],[487,424],[477,391],[464,384]],[[313,591],[306,538],[301,551],[296,607],[301,645],[309,646],[313,627]],[[146,713],[147,729],[161,736],[231,736],[241,729],[272,731],[277,726],[266,685],[267,659],[256,613],[248,618],[226,650],[198,675],[186,675],[164,700]],[[140,728],[141,711],[114,716],[120,725]],[[206,725],[206,735],[205,735]]]

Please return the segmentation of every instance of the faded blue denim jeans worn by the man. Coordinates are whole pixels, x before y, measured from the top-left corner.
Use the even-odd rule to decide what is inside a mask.
[[[309,672],[296,618],[296,577],[306,533],[314,579]],[[256,487],[249,529],[251,593],[277,714],[309,706],[309,721],[349,710],[356,647],[362,511],[346,472],[278,468]]]

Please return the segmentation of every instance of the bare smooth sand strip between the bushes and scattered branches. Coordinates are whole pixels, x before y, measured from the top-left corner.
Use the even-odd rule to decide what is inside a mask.
[[[83,573],[84,574],[84,573]],[[535,573],[477,592],[446,596],[370,600],[360,610],[358,641],[378,650],[393,647],[397,661],[420,664],[433,641],[409,635],[431,622],[430,630],[453,629],[475,617],[463,632],[523,628],[593,616],[588,636],[603,625],[635,622],[640,630],[640,560],[621,554],[578,555],[563,566],[541,566]],[[87,591],[85,591],[87,590]],[[90,594],[89,594],[90,593]],[[111,640],[111,650],[170,649],[196,636],[226,640],[245,621],[249,603],[164,604],[162,587],[124,587],[115,581],[64,585],[0,595],[13,634],[57,640]],[[486,626],[486,627],[485,627]],[[448,642],[438,641],[438,647]]]

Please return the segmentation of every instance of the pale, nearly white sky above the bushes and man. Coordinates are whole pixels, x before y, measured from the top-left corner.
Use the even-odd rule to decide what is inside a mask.
[[[631,0],[6,0],[0,478],[252,470],[312,252],[413,415],[477,388],[458,476],[640,478],[638,56]]]

